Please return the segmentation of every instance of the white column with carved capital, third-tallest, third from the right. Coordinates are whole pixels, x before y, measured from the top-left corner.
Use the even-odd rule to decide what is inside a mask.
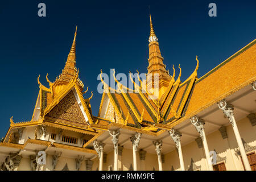
[[[169,134],[171,138],[174,140],[177,150],[179,152],[179,159],[180,159],[180,169],[181,171],[185,171],[185,166],[184,166],[184,160],[183,160],[183,154],[181,150],[181,133],[179,131],[175,131],[174,129],[171,129],[169,131]]]

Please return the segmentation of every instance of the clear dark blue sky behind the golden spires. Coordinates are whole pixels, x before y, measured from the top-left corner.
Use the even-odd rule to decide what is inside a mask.
[[[46,17],[38,3],[46,3]],[[217,5],[217,17],[208,5]],[[1,1],[0,2],[0,137],[14,122],[29,121],[35,107],[40,74],[54,81],[61,73],[77,30],[77,64],[89,90],[93,114],[101,95],[97,76],[147,72],[148,5],[164,64],[182,68],[181,81],[196,66],[199,77],[255,39],[256,1]],[[86,94],[90,97],[90,93]]]

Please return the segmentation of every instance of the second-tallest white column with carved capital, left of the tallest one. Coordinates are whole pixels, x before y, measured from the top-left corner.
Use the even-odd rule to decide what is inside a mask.
[[[207,158],[208,168],[210,171],[213,171],[212,160],[210,160],[209,148],[208,148],[207,139],[204,132],[205,122],[203,119],[197,118],[196,115],[193,116],[190,120],[192,125],[194,125],[196,130],[199,132],[201,139],[203,140],[203,146],[204,146],[205,156]]]

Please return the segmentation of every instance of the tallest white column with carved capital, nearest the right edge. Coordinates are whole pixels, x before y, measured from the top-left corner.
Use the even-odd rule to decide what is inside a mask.
[[[218,102],[218,107],[224,112],[226,117],[229,118],[229,122],[233,126],[234,134],[237,139],[237,144],[238,144],[239,150],[241,152],[243,164],[245,164],[245,169],[246,169],[246,171],[251,171],[251,166],[250,166],[249,160],[248,160],[246,152],[245,152],[245,147],[243,147],[243,142],[242,142],[242,139],[241,139],[238,127],[237,127],[237,122],[236,122],[236,119],[234,118],[234,111],[233,111],[234,107],[230,104],[226,104],[225,100],[221,100],[220,102]]]

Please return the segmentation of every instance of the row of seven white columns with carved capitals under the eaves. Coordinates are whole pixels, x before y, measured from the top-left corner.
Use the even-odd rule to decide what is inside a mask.
[[[238,143],[238,147],[241,152],[242,160],[243,163],[245,164],[245,169],[246,171],[251,171],[250,163],[247,158],[245,148],[243,147],[242,139],[240,136],[240,133],[238,131],[238,127],[236,124],[236,119],[234,118],[234,112],[233,112],[233,106],[226,104],[225,100],[222,100],[218,102],[218,107],[224,112],[226,117],[228,117],[229,122],[232,124],[234,134],[236,136],[236,140]],[[207,158],[207,166],[210,171],[213,171],[213,166],[212,166],[212,160],[210,159],[210,153],[209,153],[209,148],[207,144],[207,138],[205,135],[205,130],[204,130],[204,125],[205,122],[203,119],[198,118],[196,115],[191,118],[191,123],[193,126],[195,126],[196,130],[199,132],[200,137],[203,141],[203,146],[204,146],[204,151],[205,151],[205,156]],[[181,171],[185,171],[185,166],[184,166],[184,160],[183,160],[183,154],[182,154],[182,149],[181,149],[181,133],[179,131],[176,131],[174,129],[171,129],[168,131],[171,138],[174,140],[176,144],[177,151],[179,153],[179,160],[180,160],[180,168]],[[114,144],[114,171],[118,171],[118,137],[120,135],[119,131],[109,131],[110,136],[112,137],[112,141]],[[141,133],[136,133],[132,137],[130,137],[131,142],[133,144],[133,169],[134,171],[137,171],[137,148],[139,145],[139,141],[141,140]],[[161,141],[156,141],[153,142],[155,146],[155,151],[158,156],[158,165],[159,165],[159,171],[163,170],[162,167],[162,158],[161,158],[161,150],[162,150],[162,140]],[[100,165],[99,165],[99,170],[102,171],[102,166],[103,166],[103,150],[104,150],[104,143],[98,143],[97,140],[94,140],[93,142],[94,149],[97,151],[98,158],[100,159]]]

